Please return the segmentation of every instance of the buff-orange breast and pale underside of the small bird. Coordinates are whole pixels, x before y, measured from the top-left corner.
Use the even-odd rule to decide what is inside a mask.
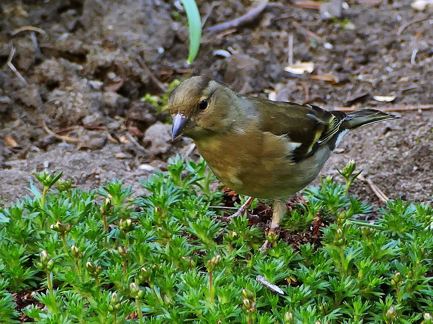
[[[287,141],[281,137],[266,132],[246,134],[196,139],[200,155],[216,178],[239,194],[287,199],[309,184],[322,167],[313,159],[293,163]]]

